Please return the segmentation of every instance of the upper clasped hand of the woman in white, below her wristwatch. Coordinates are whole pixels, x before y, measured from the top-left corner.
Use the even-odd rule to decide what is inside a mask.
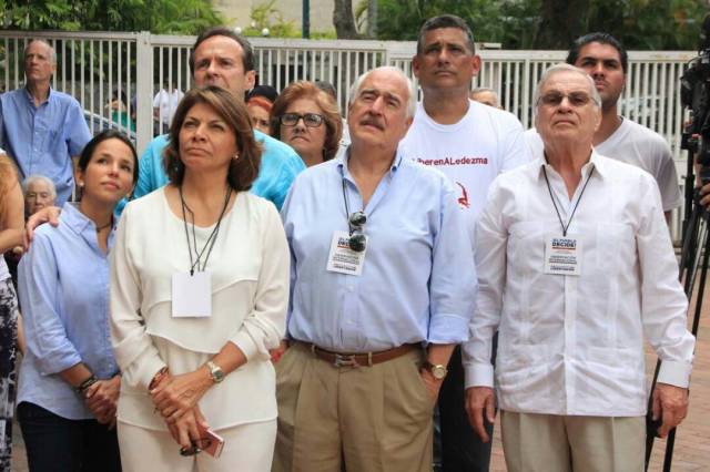
[[[166,378],[150,391],[155,409],[171,423],[196,407],[213,381],[206,367]]]

